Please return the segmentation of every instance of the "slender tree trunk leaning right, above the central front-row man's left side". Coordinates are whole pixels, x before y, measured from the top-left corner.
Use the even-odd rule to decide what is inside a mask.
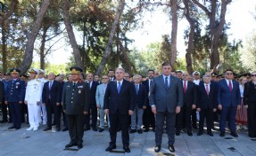
[[[119,21],[120,21],[121,13],[124,10],[124,6],[125,6],[125,1],[120,1],[120,4],[118,6],[118,10],[117,10],[117,14],[116,14],[115,20],[113,21],[113,24],[112,24],[112,27],[111,27],[111,33],[110,33],[110,36],[109,36],[109,41],[108,41],[108,43],[106,45],[105,53],[103,55],[102,61],[100,63],[100,66],[97,69],[96,74],[102,74],[104,66],[106,65],[107,58],[111,54],[111,44],[113,42],[113,37],[115,35],[116,29],[117,29]]]

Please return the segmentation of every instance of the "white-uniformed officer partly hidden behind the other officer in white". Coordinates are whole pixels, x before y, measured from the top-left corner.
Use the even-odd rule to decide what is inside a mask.
[[[43,92],[45,82],[48,82],[48,81],[45,79],[45,71],[43,69],[39,69],[38,72],[39,72],[38,80],[42,84],[41,92]],[[43,125],[45,125],[47,123],[47,113],[46,113],[46,107],[45,107],[45,105],[43,105],[42,100],[40,101],[40,111],[42,111],[42,115],[43,115],[42,123],[43,123]]]

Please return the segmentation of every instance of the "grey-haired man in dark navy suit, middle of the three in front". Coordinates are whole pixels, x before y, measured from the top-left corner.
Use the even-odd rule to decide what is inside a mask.
[[[104,112],[109,113],[111,142],[107,152],[116,148],[117,129],[121,127],[122,144],[125,152],[130,152],[128,135],[128,115],[134,110],[135,90],[133,84],[124,80],[125,70],[118,67],[115,71],[116,81],[109,82],[104,96]],[[118,122],[119,121],[119,122]]]

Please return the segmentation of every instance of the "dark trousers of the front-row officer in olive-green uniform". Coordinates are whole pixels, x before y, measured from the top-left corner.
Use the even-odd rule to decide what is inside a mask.
[[[70,140],[72,143],[82,144],[84,136],[83,119],[84,114],[67,114],[69,123]]]

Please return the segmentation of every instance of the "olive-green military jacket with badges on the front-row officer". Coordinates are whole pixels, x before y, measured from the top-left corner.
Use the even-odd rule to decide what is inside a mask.
[[[62,105],[66,114],[81,114],[88,112],[90,88],[88,83],[78,81],[73,87],[73,82],[65,82],[62,90]]]

